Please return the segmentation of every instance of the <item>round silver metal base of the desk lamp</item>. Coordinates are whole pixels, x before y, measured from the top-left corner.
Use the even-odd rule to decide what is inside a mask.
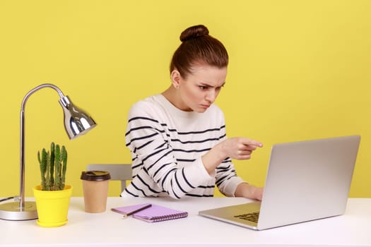
[[[0,219],[29,220],[37,219],[35,202],[25,202],[25,207],[20,211],[19,202],[0,204]]]

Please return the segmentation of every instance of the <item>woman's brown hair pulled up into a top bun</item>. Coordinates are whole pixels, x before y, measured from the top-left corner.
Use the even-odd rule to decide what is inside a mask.
[[[170,73],[177,69],[184,78],[192,73],[195,64],[208,64],[223,68],[228,66],[228,52],[216,38],[208,35],[204,25],[194,25],[180,35],[179,45],[170,63]]]

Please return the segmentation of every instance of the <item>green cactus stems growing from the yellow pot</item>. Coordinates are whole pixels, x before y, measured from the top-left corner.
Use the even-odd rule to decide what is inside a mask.
[[[42,191],[61,191],[66,182],[67,150],[66,147],[50,145],[50,151],[37,152],[40,164]]]

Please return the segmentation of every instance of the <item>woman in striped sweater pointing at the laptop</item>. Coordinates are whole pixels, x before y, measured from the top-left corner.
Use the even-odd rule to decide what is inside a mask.
[[[129,111],[126,146],[133,180],[122,196],[227,196],[261,200],[263,189],[237,176],[231,159],[249,159],[261,143],[227,138],[216,100],[227,76],[228,53],[204,25],[187,28],[172,56],[172,84]]]

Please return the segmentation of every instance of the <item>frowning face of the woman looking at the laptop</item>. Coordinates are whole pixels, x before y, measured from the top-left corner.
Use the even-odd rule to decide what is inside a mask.
[[[173,80],[178,92],[175,106],[187,112],[205,112],[216,100],[226,76],[227,67],[194,66],[187,78],[179,75],[178,80]]]

